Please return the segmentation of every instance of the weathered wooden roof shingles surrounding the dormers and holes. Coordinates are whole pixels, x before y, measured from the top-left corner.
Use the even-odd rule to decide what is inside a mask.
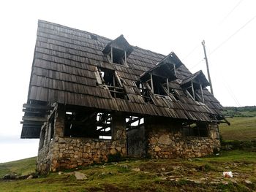
[[[221,115],[219,101],[206,88],[203,89],[205,104],[184,93],[181,82],[192,73],[182,63],[176,69],[178,79],[169,82],[179,100],[152,96],[154,103],[146,103],[135,82],[140,80],[141,74],[154,69],[165,55],[132,46],[127,66],[111,64],[102,53],[110,42],[110,39],[96,34],[39,20],[28,101],[57,102],[184,120],[211,121],[213,116]],[[113,99],[108,89],[97,85],[96,66],[116,71],[125,82],[124,90],[129,100]]]

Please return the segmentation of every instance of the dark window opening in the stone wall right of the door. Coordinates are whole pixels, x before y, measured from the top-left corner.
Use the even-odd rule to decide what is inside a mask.
[[[208,126],[206,123],[192,123],[183,127],[184,136],[208,137]]]

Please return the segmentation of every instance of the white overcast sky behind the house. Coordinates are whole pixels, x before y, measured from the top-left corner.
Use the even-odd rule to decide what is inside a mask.
[[[214,95],[223,106],[245,106],[256,104],[255,8],[254,0],[1,1],[0,162],[37,155],[38,139],[19,138],[38,19],[110,39],[124,34],[131,45],[165,55],[174,51],[207,77],[205,39]]]

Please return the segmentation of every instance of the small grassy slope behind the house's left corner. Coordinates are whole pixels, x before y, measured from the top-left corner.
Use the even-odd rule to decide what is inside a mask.
[[[34,172],[36,169],[36,157],[25,158],[18,161],[11,161],[0,164],[0,178],[8,173],[26,175]]]

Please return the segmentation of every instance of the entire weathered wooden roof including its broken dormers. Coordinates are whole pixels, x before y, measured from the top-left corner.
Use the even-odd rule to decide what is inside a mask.
[[[140,83],[147,81],[147,86]],[[192,99],[184,90],[192,81],[202,85],[204,102],[195,101],[197,93]],[[203,72],[189,72],[175,53],[162,55],[129,45],[122,35],[111,40],[39,20],[27,104],[51,106],[56,102],[89,110],[209,122],[223,116],[208,85]],[[29,128],[33,122],[29,118],[36,115],[25,112],[24,117],[28,118],[23,128]]]

